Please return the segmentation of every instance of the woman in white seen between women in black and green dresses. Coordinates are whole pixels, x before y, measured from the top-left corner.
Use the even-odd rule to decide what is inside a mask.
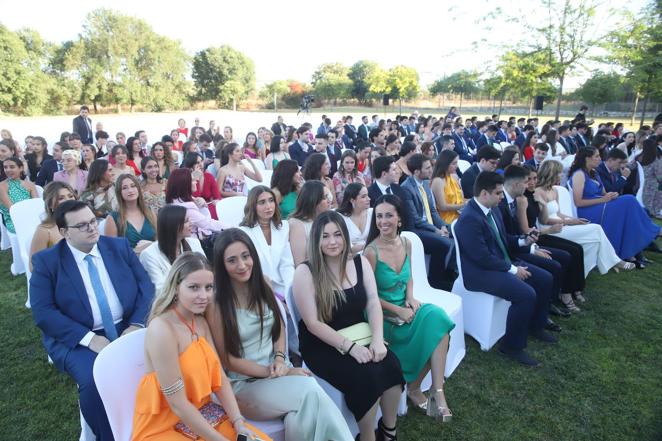
[[[338,213],[347,225],[349,240],[352,243],[352,253],[357,254],[365,248],[368,232],[370,231],[370,196],[365,185],[353,182],[345,188],[342,203]]]

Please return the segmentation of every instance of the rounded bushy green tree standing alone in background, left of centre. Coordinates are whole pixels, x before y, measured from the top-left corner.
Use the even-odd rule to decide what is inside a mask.
[[[193,80],[200,99],[234,107],[255,89],[255,66],[230,46],[211,47],[193,57]]]

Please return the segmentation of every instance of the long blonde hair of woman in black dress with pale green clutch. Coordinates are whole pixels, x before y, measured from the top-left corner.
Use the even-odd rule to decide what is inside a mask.
[[[322,253],[321,242],[324,227],[334,223],[342,232],[343,250],[340,256],[340,277],[336,278],[326,257]],[[346,266],[349,259],[349,232],[342,217],[335,211],[326,211],[320,214],[310,230],[308,239],[308,268],[313,275],[315,286],[315,302],[317,303],[317,318],[328,323],[333,318],[334,311],[345,301],[345,291],[342,288],[343,280],[347,279]]]

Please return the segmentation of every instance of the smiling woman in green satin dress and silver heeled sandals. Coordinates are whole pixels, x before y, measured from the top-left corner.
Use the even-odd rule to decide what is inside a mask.
[[[414,298],[411,243],[400,237],[403,209],[400,199],[381,196],[375,203],[364,256],[375,271],[384,311],[384,339],[395,352],[407,382],[407,398],[428,416],[450,421],[444,396],[444,371],[449,333],[455,323],[443,309]],[[432,374],[426,399],[421,382]]]

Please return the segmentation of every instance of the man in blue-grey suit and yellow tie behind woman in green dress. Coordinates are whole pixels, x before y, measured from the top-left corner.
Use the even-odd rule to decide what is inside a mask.
[[[412,175],[401,185],[407,192],[403,201],[405,216],[411,231],[423,242],[425,253],[430,255],[428,277],[430,285],[444,289],[444,270],[454,270],[457,266],[453,241],[448,238],[448,229],[434,203],[429,179],[432,176],[430,158],[420,153],[407,160],[407,168]]]

